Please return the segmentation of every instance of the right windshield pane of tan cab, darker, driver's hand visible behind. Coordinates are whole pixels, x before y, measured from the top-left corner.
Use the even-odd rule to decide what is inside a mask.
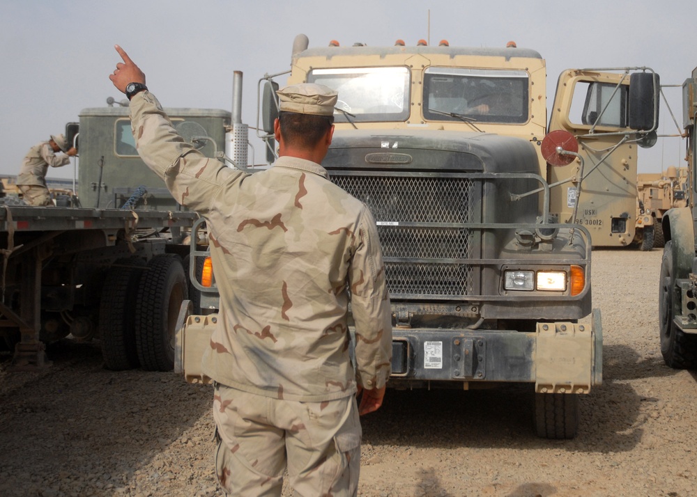
[[[528,73],[519,70],[427,68],[424,74],[424,118],[526,123]]]

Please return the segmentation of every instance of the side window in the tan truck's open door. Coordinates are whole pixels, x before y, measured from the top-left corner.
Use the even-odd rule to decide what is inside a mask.
[[[574,86],[569,121],[587,126],[627,127],[628,95],[627,85],[618,88],[612,83],[580,81]]]

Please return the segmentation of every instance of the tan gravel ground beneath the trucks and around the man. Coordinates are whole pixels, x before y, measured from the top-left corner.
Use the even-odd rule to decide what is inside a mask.
[[[530,386],[388,390],[363,419],[359,494],[694,495],[697,377],[661,358],[660,264],[658,250],[593,253],[604,384],[582,397],[576,439],[535,436]],[[94,344],[48,352],[41,372],[6,372],[1,357],[0,496],[222,496],[210,387],[110,372]]]

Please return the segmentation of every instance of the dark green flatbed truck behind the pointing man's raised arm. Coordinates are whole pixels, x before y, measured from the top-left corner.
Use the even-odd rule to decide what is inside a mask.
[[[186,139],[222,158],[229,111],[167,111]],[[14,353],[10,368],[36,369],[45,344],[72,334],[99,338],[107,368],[171,370],[198,216],[139,159],[125,107],[83,109],[66,136],[79,150],[77,196],[0,207],[0,349]]]

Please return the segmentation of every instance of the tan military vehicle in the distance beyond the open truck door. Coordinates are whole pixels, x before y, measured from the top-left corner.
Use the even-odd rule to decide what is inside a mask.
[[[643,251],[663,248],[661,220],[671,207],[687,205],[687,168],[670,166],[663,173],[636,176],[636,227],[634,244]]]

